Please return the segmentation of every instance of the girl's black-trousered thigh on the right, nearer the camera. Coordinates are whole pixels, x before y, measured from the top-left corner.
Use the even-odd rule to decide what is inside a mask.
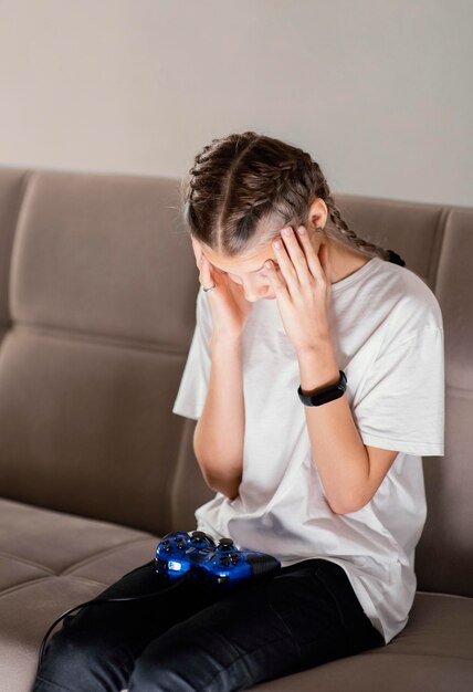
[[[305,560],[244,585],[150,641],[128,691],[235,692],[381,643],[345,572]]]

